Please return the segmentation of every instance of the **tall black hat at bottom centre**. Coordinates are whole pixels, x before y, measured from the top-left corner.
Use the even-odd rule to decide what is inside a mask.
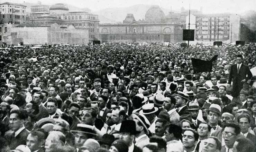
[[[120,133],[122,133],[122,132],[131,133],[133,135],[137,134],[138,131],[136,131],[135,121],[134,120],[122,121],[119,132]]]

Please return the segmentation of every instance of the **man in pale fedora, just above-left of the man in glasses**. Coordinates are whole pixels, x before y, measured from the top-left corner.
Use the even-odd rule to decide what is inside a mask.
[[[208,124],[212,127],[211,133],[213,131],[222,130],[218,125],[218,122],[221,118],[221,107],[217,104],[211,104],[209,109],[205,109],[207,113]]]

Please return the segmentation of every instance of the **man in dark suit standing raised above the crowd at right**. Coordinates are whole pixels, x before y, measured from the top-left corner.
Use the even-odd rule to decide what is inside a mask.
[[[248,79],[252,78],[250,69],[242,63],[243,56],[240,54],[237,55],[236,60],[237,64],[231,66],[227,86],[229,88],[233,80],[232,97],[237,97],[243,88],[243,84],[247,82]]]

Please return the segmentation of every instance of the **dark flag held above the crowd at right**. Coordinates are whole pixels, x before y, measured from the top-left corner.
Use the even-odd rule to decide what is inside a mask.
[[[194,73],[211,72],[212,62],[217,60],[218,55],[215,55],[210,61],[191,58]]]

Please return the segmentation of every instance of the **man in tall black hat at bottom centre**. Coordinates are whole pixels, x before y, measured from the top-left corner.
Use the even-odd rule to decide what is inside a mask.
[[[129,152],[142,152],[140,148],[134,145],[136,131],[136,123],[133,120],[125,120],[121,123],[119,131],[119,139],[124,140],[129,146]]]

